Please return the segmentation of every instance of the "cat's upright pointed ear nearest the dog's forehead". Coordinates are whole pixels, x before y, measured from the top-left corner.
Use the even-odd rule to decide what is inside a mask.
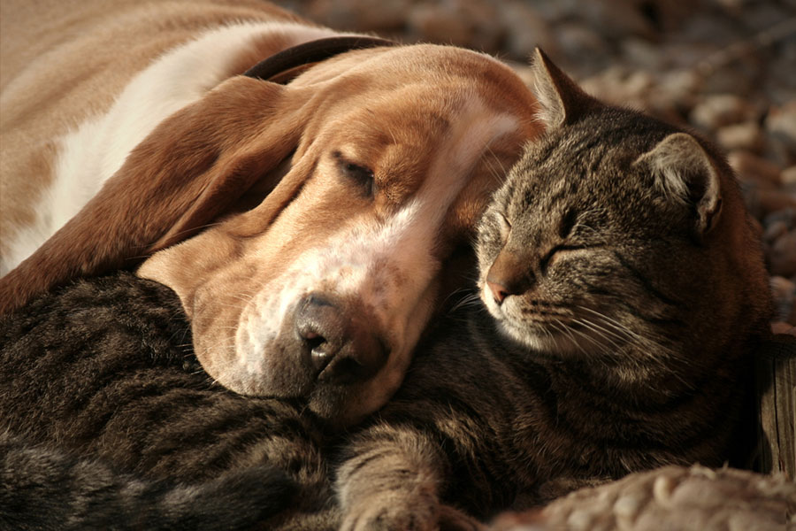
[[[534,55],[532,90],[540,103],[538,116],[547,127],[572,123],[596,103],[544,51],[537,48]]]

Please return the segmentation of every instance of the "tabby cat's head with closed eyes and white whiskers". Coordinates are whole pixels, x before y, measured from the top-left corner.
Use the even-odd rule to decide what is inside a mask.
[[[533,68],[547,133],[478,232],[478,288],[501,330],[553,355],[607,359],[715,350],[762,331],[762,252],[723,157],[587,96],[541,51]]]

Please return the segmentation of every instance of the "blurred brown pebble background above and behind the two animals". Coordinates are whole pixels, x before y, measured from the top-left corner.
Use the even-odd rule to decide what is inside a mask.
[[[277,0],[325,26],[493,54],[540,46],[594,96],[728,153],[796,335],[796,0]]]

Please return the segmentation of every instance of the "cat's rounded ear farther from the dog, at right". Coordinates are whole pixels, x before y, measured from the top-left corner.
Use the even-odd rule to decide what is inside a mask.
[[[694,205],[698,234],[716,227],[722,211],[721,181],[708,153],[692,135],[673,133],[634,164],[647,165],[666,196]]]

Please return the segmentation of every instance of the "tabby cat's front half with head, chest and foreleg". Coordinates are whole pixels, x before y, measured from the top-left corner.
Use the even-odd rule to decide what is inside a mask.
[[[443,504],[487,519],[657,466],[744,464],[771,301],[731,169],[542,52],[534,73],[547,133],[478,227],[480,302],[342,450],[343,530],[466,528]]]

